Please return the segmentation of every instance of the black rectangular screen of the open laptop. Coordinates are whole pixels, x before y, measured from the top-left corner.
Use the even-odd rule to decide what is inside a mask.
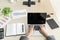
[[[46,13],[28,13],[28,24],[45,24]]]

